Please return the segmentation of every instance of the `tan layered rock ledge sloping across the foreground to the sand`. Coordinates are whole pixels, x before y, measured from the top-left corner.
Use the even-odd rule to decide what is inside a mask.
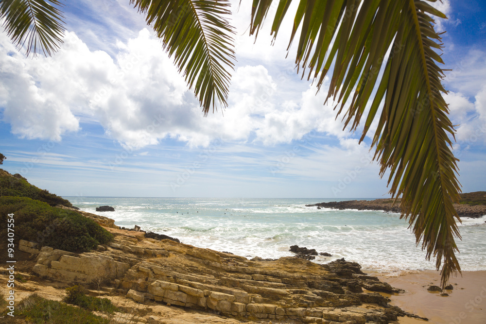
[[[416,317],[375,292],[399,290],[344,259],[327,265],[295,257],[252,261],[169,239],[147,239],[140,232],[107,229],[115,240],[88,253],[28,241],[21,241],[19,250],[35,256],[32,273],[39,278],[66,285],[102,284],[105,291],[137,303],[162,303],[228,320],[364,324]],[[166,323],[156,315],[151,318]]]

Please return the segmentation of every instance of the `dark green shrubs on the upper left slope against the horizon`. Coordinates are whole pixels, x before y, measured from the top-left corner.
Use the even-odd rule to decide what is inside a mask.
[[[0,196],[29,197],[51,206],[72,207],[68,200],[31,185],[18,173],[12,176],[2,169],[0,169]]]

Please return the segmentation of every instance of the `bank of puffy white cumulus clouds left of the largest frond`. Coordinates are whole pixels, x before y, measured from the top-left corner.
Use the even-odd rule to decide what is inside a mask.
[[[1,44],[12,46],[4,34]],[[273,145],[312,130],[348,136],[340,120],[334,120],[333,104],[323,105],[326,94],[316,95],[312,85],[302,91],[306,85],[292,69],[271,75],[261,65],[237,68],[226,111],[204,118],[172,59],[148,30],[119,41],[117,48],[114,58],[90,51],[70,32],[52,58],[26,59],[14,49],[2,51],[0,100],[12,132],[60,140],[78,131],[84,117],[132,149],[167,137],[207,146],[218,138]]]

